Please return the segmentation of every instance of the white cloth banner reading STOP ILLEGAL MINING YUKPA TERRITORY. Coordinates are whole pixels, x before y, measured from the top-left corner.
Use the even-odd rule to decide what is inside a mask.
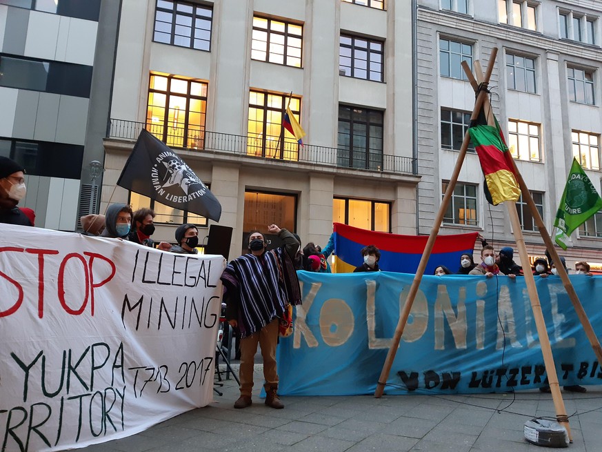
[[[224,267],[0,224],[0,451],[106,442],[212,402]]]

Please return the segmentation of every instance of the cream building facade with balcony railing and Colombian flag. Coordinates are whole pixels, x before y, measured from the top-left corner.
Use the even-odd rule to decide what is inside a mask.
[[[146,128],[221,202],[230,257],[272,223],[322,245],[333,221],[413,234],[411,61],[410,2],[124,1],[101,210],[152,206],[170,242],[183,222],[208,234],[206,219],[116,186]],[[304,146],[282,127],[287,106]]]

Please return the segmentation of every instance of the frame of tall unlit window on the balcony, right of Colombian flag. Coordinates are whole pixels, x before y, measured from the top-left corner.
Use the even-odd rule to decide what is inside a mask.
[[[341,111],[348,110],[349,115],[341,115]],[[354,119],[354,115],[365,115],[368,118],[367,121],[361,119]],[[380,121],[371,121],[371,118],[378,117]],[[347,134],[341,131],[341,123],[349,124],[348,130],[348,146],[341,144],[341,138]],[[355,130],[361,130],[361,125],[364,126],[365,135],[361,135],[359,132],[354,133]],[[357,168],[363,170],[381,170],[383,168],[383,155],[384,155],[384,127],[385,127],[385,115],[382,110],[374,110],[371,108],[360,108],[357,106],[350,106],[345,104],[339,104],[339,116],[337,122],[337,166],[343,168]],[[381,129],[380,137],[375,135],[374,137],[370,133],[372,129],[376,131],[377,128]],[[357,142],[364,140],[364,146],[357,146]],[[372,147],[372,143],[380,141],[380,148]],[[357,149],[357,148],[360,149]],[[363,149],[362,149],[363,147]],[[376,151],[376,152],[374,152]],[[345,153],[347,155],[345,156]],[[363,153],[363,159],[355,158],[356,153]],[[373,159],[376,155],[377,159]],[[356,161],[362,163],[361,166],[355,164]],[[347,162],[347,163],[345,163]]]

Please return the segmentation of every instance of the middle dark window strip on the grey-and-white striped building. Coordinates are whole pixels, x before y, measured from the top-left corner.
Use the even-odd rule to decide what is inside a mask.
[[[92,66],[0,54],[0,86],[90,97]]]

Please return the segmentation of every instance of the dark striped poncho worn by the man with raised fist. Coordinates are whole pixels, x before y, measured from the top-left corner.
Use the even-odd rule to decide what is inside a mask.
[[[297,272],[284,248],[237,257],[225,268],[221,280],[228,289],[228,311],[237,311],[241,338],[280,317],[289,303],[301,304]],[[233,304],[237,309],[232,309]]]

